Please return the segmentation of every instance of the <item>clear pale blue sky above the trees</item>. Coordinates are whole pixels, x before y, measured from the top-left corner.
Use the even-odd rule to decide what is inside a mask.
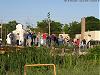
[[[16,20],[36,26],[37,21],[50,18],[61,23],[80,22],[82,17],[100,19],[100,2],[68,2],[64,0],[0,0],[0,21]]]

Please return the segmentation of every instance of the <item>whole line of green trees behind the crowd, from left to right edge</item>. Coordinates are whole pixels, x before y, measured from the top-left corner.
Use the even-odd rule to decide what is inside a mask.
[[[18,22],[16,20],[10,21],[2,26],[2,33],[3,33],[3,41],[6,41],[6,36],[8,33],[12,32],[16,29],[16,25]],[[42,20],[37,22],[36,28],[32,27],[31,25],[27,25],[27,28],[32,30],[33,32],[49,32],[49,25],[47,20]],[[86,17],[86,31],[94,31],[100,30],[100,20],[94,16]],[[75,37],[75,34],[81,33],[81,22],[73,21],[69,24],[62,24],[57,21],[50,21],[50,32],[51,34],[60,34],[66,33],[69,34],[71,38]]]

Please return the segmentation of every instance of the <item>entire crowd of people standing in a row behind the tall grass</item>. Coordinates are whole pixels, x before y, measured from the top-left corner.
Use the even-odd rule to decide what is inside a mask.
[[[68,37],[63,37],[60,35],[59,37],[56,36],[56,34],[48,35],[47,33],[40,33],[38,32],[37,34],[35,32],[27,32],[26,34],[23,35],[24,41],[20,41],[20,36],[19,33],[17,33],[16,36],[14,36],[13,33],[9,35],[11,39],[11,45],[21,45],[21,46],[46,46],[46,47],[51,47],[51,46],[62,46],[62,45],[74,45],[76,47],[85,47],[86,46],[86,40],[82,40],[80,42],[79,39],[77,40],[70,40]],[[14,38],[16,40],[14,40]]]

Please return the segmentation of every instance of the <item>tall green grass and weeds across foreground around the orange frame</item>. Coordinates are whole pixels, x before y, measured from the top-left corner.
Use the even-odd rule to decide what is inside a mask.
[[[7,47],[8,48],[8,47]],[[23,49],[9,47],[5,54],[0,55],[1,75],[23,75],[25,64],[56,64],[57,75],[98,75],[100,62],[100,46],[89,50],[87,55],[72,55],[71,53],[60,56],[48,48],[27,47]],[[94,54],[93,54],[94,53]],[[47,67],[28,68],[29,75],[50,75]],[[33,73],[35,71],[35,74]],[[37,72],[38,73],[38,72]],[[46,74],[47,73],[47,74]]]

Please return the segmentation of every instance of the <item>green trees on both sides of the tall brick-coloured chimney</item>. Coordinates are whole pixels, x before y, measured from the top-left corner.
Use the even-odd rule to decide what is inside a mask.
[[[86,31],[95,30],[100,30],[100,20],[93,16],[86,17]],[[74,38],[75,34],[81,33],[81,22],[74,21],[68,25],[66,24],[63,28],[63,31],[65,33],[69,33],[71,38]]]

